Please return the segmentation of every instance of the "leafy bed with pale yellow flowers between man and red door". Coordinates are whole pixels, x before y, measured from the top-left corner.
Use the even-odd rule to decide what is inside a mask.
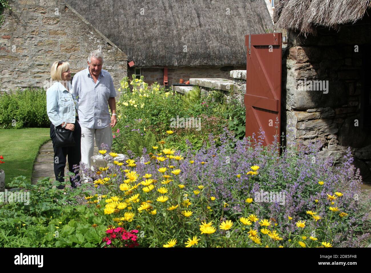
[[[225,126],[234,131],[236,136],[244,136],[244,108],[239,107],[237,101],[227,103],[223,91],[211,90],[203,94],[199,87],[194,87],[187,94],[181,95],[171,89],[160,88],[157,83],[148,88],[143,78],[129,83],[127,77],[122,79],[120,85],[122,96],[116,107],[116,128],[119,131],[114,131],[113,144],[113,149],[118,153],[132,150],[139,156],[143,147],[149,151],[151,146],[157,146],[141,143],[149,131],[155,134],[156,141],[165,140],[182,152],[188,149],[187,140],[196,150],[208,146],[210,134],[214,135],[214,141],[218,143]],[[179,123],[180,126],[174,126],[177,117],[200,119],[201,123],[200,126],[196,123],[188,123],[187,126]],[[168,130],[174,131],[174,134],[169,136],[166,133]],[[135,131],[143,134],[142,140],[139,140],[139,134]]]

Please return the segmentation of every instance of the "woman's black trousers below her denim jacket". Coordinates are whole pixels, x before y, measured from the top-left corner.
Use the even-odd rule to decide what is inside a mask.
[[[76,146],[56,147],[54,125],[50,123],[50,138],[52,139],[54,149],[54,174],[56,181],[65,182],[63,177],[65,176],[66,157],[68,157],[68,169],[70,172],[77,175],[76,180],[80,182],[79,168],[73,170],[73,165],[80,165],[81,161],[81,127],[78,120],[76,120],[74,124],[75,130],[73,131],[73,139],[75,140]],[[73,177],[70,177],[72,188],[76,188],[76,180],[73,179]],[[58,186],[58,189],[64,188],[64,183],[63,185]]]

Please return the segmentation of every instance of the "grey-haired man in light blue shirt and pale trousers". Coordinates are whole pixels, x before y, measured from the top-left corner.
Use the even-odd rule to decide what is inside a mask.
[[[91,168],[94,137],[98,149],[101,144],[112,146],[112,127],[116,120],[116,91],[108,71],[102,69],[103,55],[94,50],[88,58],[88,68],[76,73],[72,80],[73,94],[78,98],[81,125],[81,161]],[[108,111],[111,108],[112,117]]]

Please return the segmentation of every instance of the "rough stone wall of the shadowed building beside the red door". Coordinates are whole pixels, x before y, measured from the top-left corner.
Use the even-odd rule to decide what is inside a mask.
[[[365,65],[370,60],[367,33],[370,25],[342,27],[339,32],[320,29],[317,37],[306,39],[290,33],[282,88],[287,130],[294,127],[293,137],[304,144],[316,143],[322,156],[340,160],[350,146],[364,178],[371,170],[371,134],[365,126],[370,115],[361,111],[368,105],[363,97],[370,69]],[[328,90],[325,85],[310,90],[311,84],[320,87],[313,81],[327,83]]]

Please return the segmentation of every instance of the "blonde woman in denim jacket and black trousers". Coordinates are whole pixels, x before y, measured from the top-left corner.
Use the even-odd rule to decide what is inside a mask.
[[[46,91],[46,110],[50,120],[50,138],[54,149],[55,179],[62,182],[58,189],[65,188],[63,177],[65,176],[66,156],[69,171],[76,175],[75,179],[70,177],[72,188],[76,188],[75,182],[80,181],[79,168],[73,168],[73,165],[80,165],[81,160],[81,127],[77,111],[79,105],[70,84],[69,66],[70,64],[65,61],[53,63],[50,70],[53,85]],[[61,138],[59,132],[67,133],[69,139]]]

